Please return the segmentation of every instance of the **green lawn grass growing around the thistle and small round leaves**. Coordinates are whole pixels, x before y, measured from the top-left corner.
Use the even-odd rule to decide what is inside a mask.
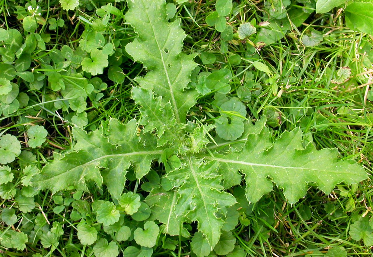
[[[84,4],[78,9],[66,12],[60,8],[57,1],[53,1],[55,5],[51,2],[49,8],[47,3],[38,3],[43,10],[43,17],[63,19],[65,25],[62,28],[57,27],[56,30],[48,30],[47,25],[40,25],[39,33],[48,32],[51,38],[46,43],[45,54],[43,51],[40,51],[41,54],[32,53],[34,67],[44,62],[43,58],[49,52],[60,49],[65,44],[75,49],[82,31],[85,26],[88,27],[83,18],[90,21],[94,10],[102,4],[95,2],[90,5],[86,4],[90,1],[81,1]],[[256,121],[266,111],[279,115],[280,124],[271,128],[273,140],[285,130],[300,127],[306,142],[313,143],[317,149],[336,148],[339,158],[357,161],[371,175],[373,102],[367,99],[367,92],[372,90],[373,84],[370,83],[373,71],[372,65],[367,66],[364,62],[364,53],[361,49],[368,43],[373,44],[372,35],[346,27],[344,13],[335,8],[329,13],[311,13],[300,26],[289,30],[285,37],[261,49],[254,49],[250,43],[235,36],[228,43],[228,52],[221,53],[220,32],[206,24],[206,16],[215,9],[215,2],[188,1],[176,5],[176,17],[181,20],[181,27],[187,35],[183,51],[196,56],[195,61],[201,71],[230,69],[230,94],[237,96],[237,90],[244,84],[248,71],[254,70],[253,62],[263,62],[274,74],[279,75],[276,82],[281,93],[272,93],[265,75],[256,77],[256,83],[260,83],[262,89],[258,95],[253,93],[251,100],[247,102],[247,118]],[[93,10],[90,10],[89,6]],[[116,7],[122,13],[127,10],[124,3],[117,3]],[[3,1],[1,13],[0,19],[4,29],[15,28],[22,31],[22,21],[16,18],[15,4]],[[227,18],[227,24],[236,32],[240,24],[253,19],[263,21],[267,15],[269,13],[263,1],[236,1],[232,14]],[[78,16],[81,18],[78,19]],[[319,31],[324,38],[315,46],[306,47],[301,39],[304,35],[310,35],[311,30]],[[123,83],[111,81],[107,69],[98,75],[107,83],[107,88],[100,92],[103,94],[100,100],[87,97],[88,118],[87,124],[84,125],[87,131],[94,131],[100,126],[106,131],[110,118],[117,118],[126,123],[141,116],[131,97],[131,89],[137,85],[134,78],[144,75],[147,71],[124,53],[124,45],[131,41],[135,34],[125,23],[123,16],[116,16],[110,20],[110,26],[104,32],[110,40],[117,40],[120,44],[117,48],[123,53],[119,58],[122,58],[120,66],[125,78]],[[203,52],[213,53],[216,61],[212,64],[203,64],[200,57]],[[231,63],[232,55],[239,55],[239,64]],[[341,84],[333,83],[332,80],[338,77],[337,71],[345,66],[351,69],[348,80]],[[82,72],[80,68],[77,70]],[[90,78],[91,75],[86,72],[85,76]],[[32,163],[42,168],[52,160],[53,152],[63,152],[75,144],[72,139],[73,111],[56,110],[54,102],[61,102],[58,100],[60,93],[52,92],[47,84],[40,89],[30,90],[21,79],[16,79],[15,83],[19,83],[19,92],[26,92],[30,100],[28,105],[19,108],[17,112],[0,116],[0,135],[13,134],[21,142],[24,152],[20,155],[18,164],[13,164],[12,167],[23,170],[26,165]],[[203,120],[204,117],[209,117],[206,122],[212,123],[217,117],[213,97],[213,93],[200,97],[197,105],[192,107],[188,119]],[[276,117],[272,118],[276,120]],[[30,124],[43,125],[48,131],[46,142],[41,147],[31,149],[27,145],[26,126]],[[16,181],[13,181],[14,188],[18,188],[18,191],[21,188],[20,179],[21,175],[18,174]],[[126,186],[129,191],[138,189],[138,192],[146,193],[141,190],[135,179]],[[94,186],[90,186],[90,189],[89,193],[85,192],[79,198],[87,201],[110,199],[109,193],[105,190],[94,189]],[[1,188],[1,193],[3,192],[7,191]],[[16,201],[13,201],[14,194],[10,195],[10,199],[6,199],[4,194],[1,195],[4,198],[0,198],[1,208],[10,208],[16,204]],[[12,227],[15,230],[23,229],[29,232],[26,249],[17,251],[1,247],[0,255],[32,256],[39,253],[40,256],[93,256],[92,246],[82,246],[76,238],[77,223],[65,219],[65,214],[56,214],[53,211],[57,205],[63,204],[62,199],[73,199],[71,197],[74,197],[71,192],[59,192],[54,196],[48,191],[38,192],[35,195],[37,204],[34,210],[26,214],[19,213],[17,219],[22,222],[15,223]],[[370,179],[357,185],[338,185],[329,195],[325,195],[310,184],[307,195],[293,205],[286,202],[280,189],[276,189],[258,203],[248,204],[248,208],[251,210],[250,215],[240,216],[239,223],[233,230],[237,245],[241,246],[248,256],[323,256],[333,247],[343,247],[348,256],[373,254],[363,241],[355,241],[349,234],[351,224],[359,217],[373,216],[373,190]],[[40,242],[32,244],[32,236],[35,239],[38,235],[27,227],[29,223],[35,222],[35,219],[44,225],[44,217],[48,217],[46,220],[50,224],[63,220],[65,226],[64,244],[60,243],[53,253],[49,248],[43,248]],[[1,223],[0,233],[5,229],[9,229],[9,226]],[[43,230],[43,226],[40,226],[40,230]],[[185,238],[175,236],[172,240],[177,242],[176,250],[159,247],[154,250],[153,256],[195,256],[191,253],[190,244]]]

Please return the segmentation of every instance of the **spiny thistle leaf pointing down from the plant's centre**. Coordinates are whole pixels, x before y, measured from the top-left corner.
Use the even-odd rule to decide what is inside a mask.
[[[225,216],[227,208],[236,202],[233,195],[223,191],[217,162],[204,163],[188,158],[180,169],[169,172],[163,179],[177,189],[176,215],[197,221],[198,230],[214,247],[225,223],[218,217]]]

